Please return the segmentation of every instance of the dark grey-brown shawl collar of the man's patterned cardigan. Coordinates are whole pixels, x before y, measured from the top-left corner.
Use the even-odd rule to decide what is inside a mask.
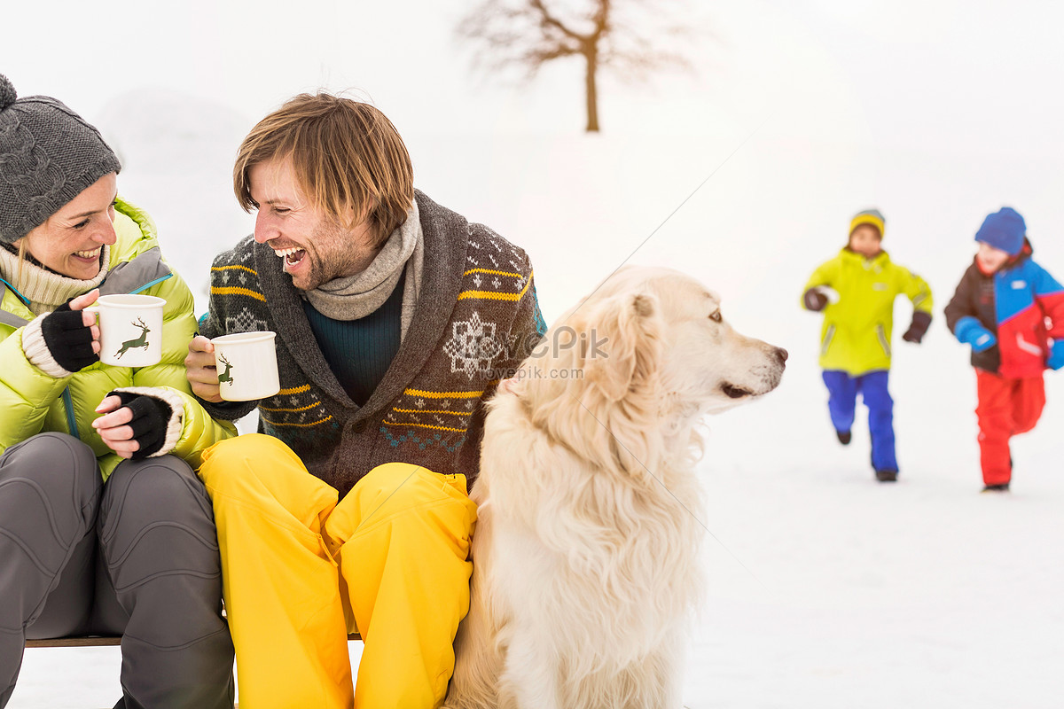
[[[270,316],[278,323],[278,336],[307,381],[343,403],[354,418],[384,408],[398,398],[411,378],[421,371],[432,356],[450,322],[454,303],[462,290],[466,251],[469,248],[469,224],[461,215],[439,206],[425,193],[415,190],[423,237],[425,272],[418,288],[410,328],[399,345],[384,378],[361,408],[347,395],[332,374],[321,354],[311,324],[303,311],[300,292],[281,267],[273,250],[264,243],[253,243],[255,271],[266,294]],[[416,252],[415,252],[416,253]],[[411,288],[406,281],[406,292]],[[406,302],[403,309],[406,309]]]

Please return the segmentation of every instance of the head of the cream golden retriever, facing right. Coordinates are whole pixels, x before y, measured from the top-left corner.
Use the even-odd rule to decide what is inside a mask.
[[[626,267],[548,331],[513,389],[539,403],[575,398],[596,415],[619,407],[686,421],[771,391],[786,357],[735,332],[719,298],[691,276]]]

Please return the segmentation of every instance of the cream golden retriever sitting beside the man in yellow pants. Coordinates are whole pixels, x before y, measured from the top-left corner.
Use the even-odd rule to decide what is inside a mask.
[[[488,404],[450,709],[679,709],[699,600],[700,418],[771,391],[785,350],[677,271],[625,268]]]

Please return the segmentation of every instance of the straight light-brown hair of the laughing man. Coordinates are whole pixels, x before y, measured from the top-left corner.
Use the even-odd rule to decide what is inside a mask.
[[[331,94],[300,94],[255,124],[240,144],[233,190],[246,212],[249,172],[260,163],[290,159],[296,180],[315,206],[347,229],[368,219],[373,247],[406,221],[414,201],[414,168],[395,125],[368,103]]]

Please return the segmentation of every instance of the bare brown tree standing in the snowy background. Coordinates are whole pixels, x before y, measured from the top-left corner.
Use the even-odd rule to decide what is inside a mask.
[[[520,67],[529,80],[548,62],[583,57],[586,130],[597,132],[600,70],[609,69],[625,81],[645,81],[662,68],[689,68],[679,52],[667,48],[687,33],[669,23],[664,4],[663,0],[483,0],[462,20],[459,36],[478,47],[477,61],[484,68]]]

